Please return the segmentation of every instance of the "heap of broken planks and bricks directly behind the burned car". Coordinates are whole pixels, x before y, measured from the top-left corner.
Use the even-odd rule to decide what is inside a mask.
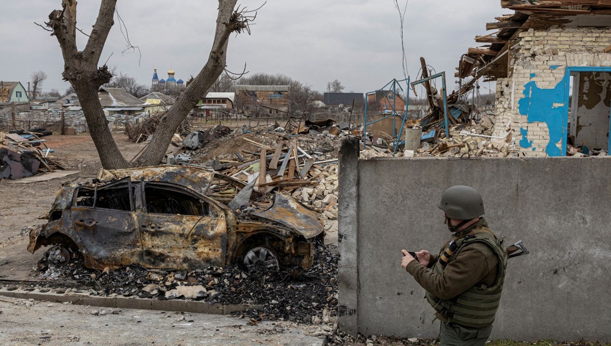
[[[168,154],[167,163],[210,168],[253,184],[260,193],[286,193],[320,212],[323,221],[337,220],[337,147],[348,131],[331,120],[309,123],[308,128],[308,134],[294,135],[278,126],[230,131],[219,125],[191,132]],[[337,223],[326,223],[326,230],[331,228],[337,229]]]

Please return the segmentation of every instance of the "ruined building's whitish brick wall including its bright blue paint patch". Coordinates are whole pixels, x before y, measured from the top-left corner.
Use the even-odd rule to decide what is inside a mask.
[[[608,20],[608,18],[607,18]],[[510,52],[510,76],[497,80],[495,136],[513,129],[525,156],[560,156],[565,106],[565,68],[609,67],[611,29],[563,27],[519,34]]]

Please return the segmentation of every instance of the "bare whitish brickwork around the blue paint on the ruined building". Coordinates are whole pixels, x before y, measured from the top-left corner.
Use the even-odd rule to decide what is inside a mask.
[[[565,76],[567,66],[611,66],[611,54],[602,51],[611,45],[611,29],[529,29],[521,32],[519,38],[513,63],[510,62],[513,73],[497,80],[496,122],[492,135],[505,134],[509,123],[521,156],[546,156],[547,124],[528,123],[527,117],[518,111],[518,101],[524,97],[524,85],[535,81],[539,88],[554,88]],[[554,66],[558,68],[552,70]],[[535,76],[531,78],[533,73]],[[531,148],[519,146],[520,128],[527,129]],[[560,143],[557,146],[560,148]]]

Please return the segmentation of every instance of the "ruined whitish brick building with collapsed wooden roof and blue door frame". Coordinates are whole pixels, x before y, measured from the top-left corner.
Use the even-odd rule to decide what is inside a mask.
[[[486,24],[497,31],[459,68],[497,82],[493,135],[511,131],[520,156],[609,153],[611,1],[501,4],[515,12]]]

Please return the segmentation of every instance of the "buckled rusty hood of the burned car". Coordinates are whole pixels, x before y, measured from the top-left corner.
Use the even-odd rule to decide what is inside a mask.
[[[282,193],[276,193],[274,204],[269,209],[253,212],[252,215],[287,226],[305,239],[318,236],[324,230],[323,221],[318,218],[320,215],[318,212]]]

